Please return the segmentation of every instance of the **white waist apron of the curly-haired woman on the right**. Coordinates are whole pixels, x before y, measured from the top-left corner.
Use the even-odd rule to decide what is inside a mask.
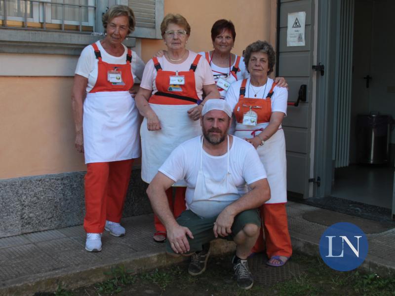
[[[269,123],[261,123],[256,126],[236,124],[235,136],[241,139],[250,139],[252,130],[266,128]],[[249,131],[240,131],[249,130]],[[258,131],[257,133],[260,133]],[[268,175],[268,182],[270,186],[271,198],[266,202],[271,203],[284,203],[287,202],[287,178],[286,178],[286,157],[285,157],[285,137],[284,131],[281,126],[276,133],[265,141],[263,146],[258,146],[257,152],[265,167]]]

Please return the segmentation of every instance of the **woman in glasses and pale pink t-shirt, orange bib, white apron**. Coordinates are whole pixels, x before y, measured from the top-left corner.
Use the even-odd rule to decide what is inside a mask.
[[[191,34],[187,20],[167,14],[160,31],[167,51],[150,60],[143,74],[136,105],[144,116],[141,125],[144,182],[151,183],[158,168],[179,144],[201,134],[198,119],[206,100],[219,98],[210,66],[202,56],[185,48]],[[204,101],[202,93],[206,94]],[[199,105],[197,105],[199,104]],[[170,208],[177,217],[185,209],[184,181],[166,191]],[[166,229],[155,216],[156,242],[164,242]]]

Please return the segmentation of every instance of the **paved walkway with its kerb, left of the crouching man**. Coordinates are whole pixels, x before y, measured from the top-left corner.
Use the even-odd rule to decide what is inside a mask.
[[[104,273],[116,265],[141,272],[180,262],[166,256],[164,244],[152,239],[152,214],[122,220],[124,237],[103,233],[103,250],[85,251],[82,226],[40,231],[0,239],[0,296],[32,296],[53,292],[61,284],[75,289],[108,279]],[[212,254],[235,250],[233,242],[216,240]]]

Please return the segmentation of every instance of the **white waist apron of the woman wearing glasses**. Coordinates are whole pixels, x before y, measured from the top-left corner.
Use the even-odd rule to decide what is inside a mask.
[[[201,135],[200,121],[192,120],[187,113],[197,105],[150,104],[150,106],[159,118],[161,129],[149,131],[147,118],[144,118],[141,124],[141,179],[146,183],[151,183],[159,167],[174,148]],[[173,186],[187,185],[184,180],[179,180]]]

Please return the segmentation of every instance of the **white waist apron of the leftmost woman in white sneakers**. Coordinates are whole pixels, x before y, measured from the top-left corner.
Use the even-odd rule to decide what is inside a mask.
[[[140,118],[128,91],[87,93],[82,119],[85,163],[140,157]]]

